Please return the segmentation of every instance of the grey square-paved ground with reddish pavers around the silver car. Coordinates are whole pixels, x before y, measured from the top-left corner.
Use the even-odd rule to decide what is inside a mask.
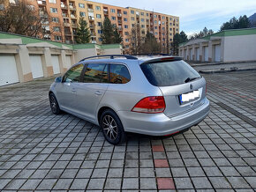
[[[205,121],[118,146],[89,122],[51,114],[52,79],[0,88],[0,190],[255,190],[255,72],[205,78]]]

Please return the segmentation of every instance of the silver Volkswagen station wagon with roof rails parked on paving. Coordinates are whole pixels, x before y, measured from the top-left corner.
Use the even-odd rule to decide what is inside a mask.
[[[197,125],[210,110],[206,92],[205,78],[179,57],[99,55],[56,78],[49,103],[119,144],[125,132],[168,136]]]

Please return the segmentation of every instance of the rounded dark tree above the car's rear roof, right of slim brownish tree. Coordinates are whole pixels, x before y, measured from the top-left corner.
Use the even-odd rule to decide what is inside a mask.
[[[161,44],[156,41],[153,33],[147,33],[145,42],[142,43],[143,54],[156,54],[161,52]]]

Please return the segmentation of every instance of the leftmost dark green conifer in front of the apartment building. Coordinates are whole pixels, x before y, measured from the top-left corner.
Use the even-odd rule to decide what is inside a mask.
[[[79,18],[79,28],[77,30],[77,43],[88,43],[91,41],[90,29],[87,27],[87,21],[84,18]]]

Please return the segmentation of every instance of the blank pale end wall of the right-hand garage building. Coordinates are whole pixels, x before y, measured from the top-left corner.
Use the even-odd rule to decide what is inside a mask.
[[[256,61],[256,34],[225,37],[223,62],[236,61]]]

